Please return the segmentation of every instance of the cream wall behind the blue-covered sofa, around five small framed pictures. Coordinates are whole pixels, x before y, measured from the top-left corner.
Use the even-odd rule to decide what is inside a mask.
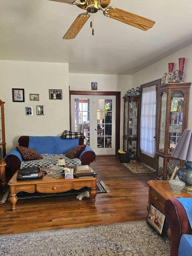
[[[18,145],[21,135],[60,135],[69,129],[68,64],[0,61],[0,98],[5,101],[6,151]],[[25,102],[12,102],[12,88],[25,89]],[[49,89],[62,89],[62,100],[49,100]],[[29,101],[38,93],[40,101]],[[45,106],[45,116],[36,115],[36,105]],[[26,116],[25,107],[33,107]]]

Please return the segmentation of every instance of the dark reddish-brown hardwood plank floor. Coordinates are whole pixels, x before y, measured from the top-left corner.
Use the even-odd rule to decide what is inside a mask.
[[[155,173],[132,173],[116,156],[98,157],[91,166],[98,181],[111,190],[97,194],[95,205],[89,198],[79,201],[69,196],[17,201],[16,211],[11,212],[10,204],[3,203],[0,235],[146,220],[147,181]]]

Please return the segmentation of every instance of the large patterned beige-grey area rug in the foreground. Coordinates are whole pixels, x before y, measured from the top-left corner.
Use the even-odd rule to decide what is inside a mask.
[[[160,237],[146,221],[58,229],[0,236],[4,256],[168,256],[167,235]]]

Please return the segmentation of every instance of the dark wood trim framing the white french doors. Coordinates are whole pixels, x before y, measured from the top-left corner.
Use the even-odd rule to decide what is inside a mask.
[[[121,113],[121,92],[103,91],[70,91],[69,89],[69,111],[70,111],[70,130],[71,130],[71,95],[115,95],[116,96],[116,152],[120,149],[120,113]]]

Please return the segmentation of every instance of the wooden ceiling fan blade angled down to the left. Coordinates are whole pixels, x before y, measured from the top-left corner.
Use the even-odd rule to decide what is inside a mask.
[[[63,39],[74,39],[90,17],[89,13],[82,13],[76,18],[73,24],[64,35]]]

